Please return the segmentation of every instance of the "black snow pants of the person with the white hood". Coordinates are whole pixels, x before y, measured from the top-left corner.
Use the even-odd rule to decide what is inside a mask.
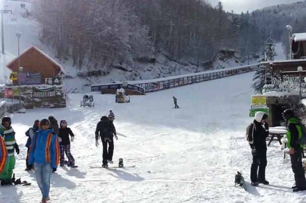
[[[251,165],[251,181],[258,182],[265,180],[265,167],[267,166],[267,151],[258,150],[257,155],[253,155]],[[258,170],[258,175],[257,175]]]

